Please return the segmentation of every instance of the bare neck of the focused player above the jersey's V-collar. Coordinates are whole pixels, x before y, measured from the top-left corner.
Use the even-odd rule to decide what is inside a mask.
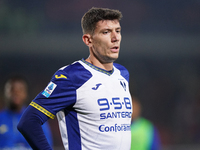
[[[98,59],[93,59],[91,56],[89,56],[85,61],[107,71],[113,69],[113,63],[101,63]]]

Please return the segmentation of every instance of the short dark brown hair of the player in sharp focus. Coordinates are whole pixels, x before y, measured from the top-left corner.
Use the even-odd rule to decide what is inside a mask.
[[[81,27],[83,34],[93,34],[97,22],[101,20],[115,20],[120,21],[122,13],[119,10],[108,9],[108,8],[96,8],[92,7],[86,12],[81,19]]]

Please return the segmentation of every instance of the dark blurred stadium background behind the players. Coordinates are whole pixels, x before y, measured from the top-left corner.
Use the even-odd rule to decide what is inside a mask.
[[[0,108],[8,76],[28,78],[31,101],[57,69],[88,56],[80,20],[92,6],[123,13],[117,62],[162,149],[200,149],[200,0],[0,0]],[[59,149],[57,120],[49,122]]]

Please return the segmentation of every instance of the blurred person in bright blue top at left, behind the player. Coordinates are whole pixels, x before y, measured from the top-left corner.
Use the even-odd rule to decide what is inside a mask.
[[[5,109],[0,111],[0,149],[31,149],[24,137],[17,130],[17,124],[25,110],[28,96],[28,85],[21,76],[11,77],[5,84]],[[48,142],[53,145],[48,123],[43,125]]]

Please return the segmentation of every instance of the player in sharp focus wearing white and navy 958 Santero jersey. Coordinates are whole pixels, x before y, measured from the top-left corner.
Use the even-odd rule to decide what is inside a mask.
[[[66,150],[130,150],[129,73],[114,63],[121,17],[118,10],[94,7],[84,14],[82,39],[89,57],[59,69],[18,124],[33,149],[51,149],[41,125],[57,115]]]

